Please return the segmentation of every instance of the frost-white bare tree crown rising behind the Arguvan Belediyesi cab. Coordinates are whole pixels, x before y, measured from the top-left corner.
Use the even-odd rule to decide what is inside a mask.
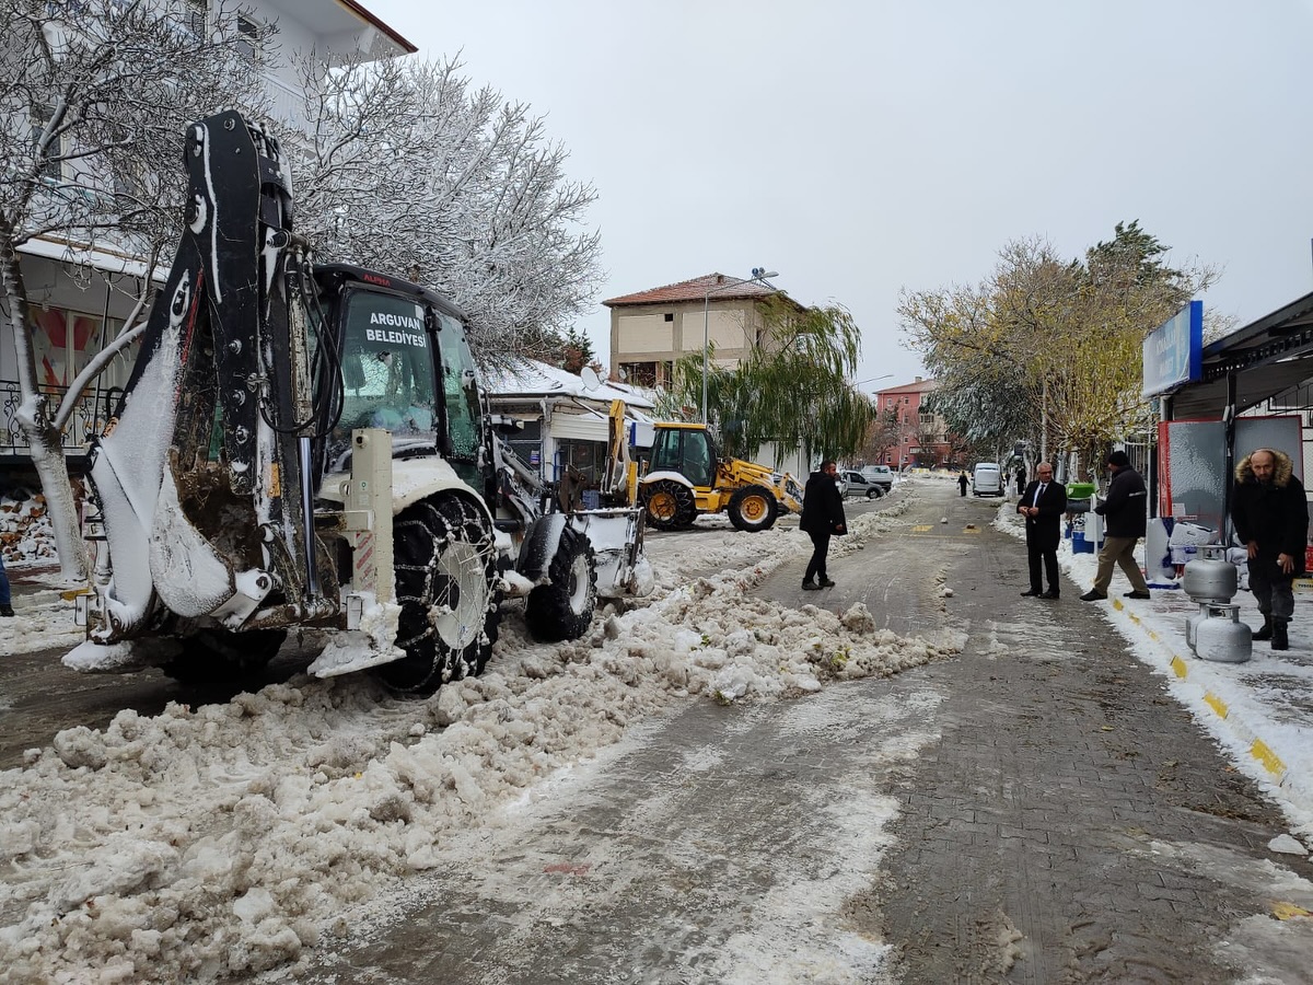
[[[454,60],[324,71],[301,60],[301,218],[320,255],[400,273],[470,315],[484,364],[551,357],[600,278],[596,198],[528,106],[471,89]]]

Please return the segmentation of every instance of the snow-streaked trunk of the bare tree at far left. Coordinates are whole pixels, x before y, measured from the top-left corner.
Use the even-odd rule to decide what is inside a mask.
[[[87,582],[87,550],[83,546],[77,503],[68,481],[68,461],[59,429],[50,419],[46,397],[37,386],[37,362],[32,347],[32,327],[28,322],[28,290],[18,269],[18,253],[13,246],[13,230],[0,217],[0,278],[4,281],[5,303],[9,306],[9,327],[18,356],[17,420],[32,449],[32,464],[46,495],[50,527],[59,552],[60,575],[70,582]]]

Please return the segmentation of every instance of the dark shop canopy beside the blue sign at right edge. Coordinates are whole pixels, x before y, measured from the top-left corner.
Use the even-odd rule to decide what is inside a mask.
[[[1221,418],[1232,376],[1237,414],[1313,380],[1313,294],[1217,339],[1203,355],[1203,378],[1171,394],[1173,420]]]

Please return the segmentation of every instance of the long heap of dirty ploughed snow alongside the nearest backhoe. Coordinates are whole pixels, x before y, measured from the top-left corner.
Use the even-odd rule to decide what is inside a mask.
[[[890,523],[860,517],[839,550]],[[4,976],[207,981],[305,960],[349,930],[352,906],[437,864],[458,833],[503,823],[534,784],[645,716],[798,697],[962,642],[899,638],[860,604],[751,596],[810,552],[786,525],[650,548],[650,604],[608,608],[588,637],[550,646],[508,619],[488,671],[428,700],[365,676],[298,678],[223,705],[125,711],[30,750],[0,776]]]

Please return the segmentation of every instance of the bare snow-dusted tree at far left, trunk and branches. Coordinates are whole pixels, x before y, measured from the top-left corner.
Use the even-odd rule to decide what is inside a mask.
[[[0,0],[0,282],[18,357],[18,423],[63,575],[85,579],[60,447],[66,418],[38,386],[20,247],[64,243],[66,261],[91,276],[91,247],[112,242],[151,269],[176,239],[185,125],[222,105],[252,112],[261,85],[238,47],[235,12],[222,7],[204,35],[147,0]],[[140,290],[138,301],[148,301],[150,277]]]

